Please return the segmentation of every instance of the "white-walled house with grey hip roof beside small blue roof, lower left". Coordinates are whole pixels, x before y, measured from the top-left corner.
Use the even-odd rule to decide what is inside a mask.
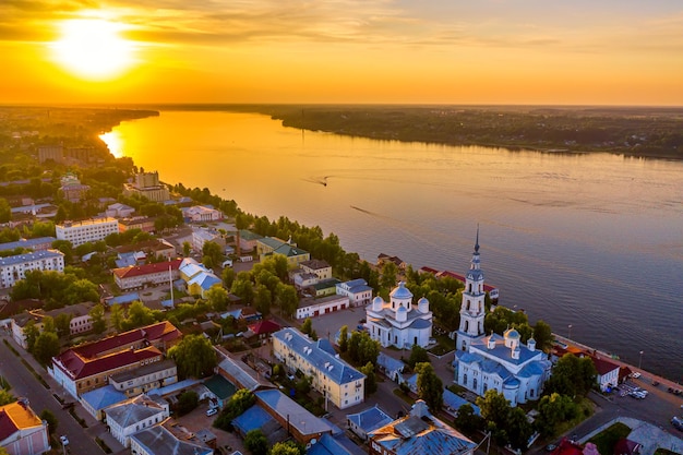
[[[147,395],[136,396],[105,409],[105,419],[111,435],[124,447],[130,446],[132,434],[163,422],[169,415],[166,399]]]

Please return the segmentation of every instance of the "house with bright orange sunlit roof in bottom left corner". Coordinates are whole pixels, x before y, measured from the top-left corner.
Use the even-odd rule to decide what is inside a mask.
[[[0,447],[12,455],[39,455],[50,450],[47,422],[36,416],[27,399],[0,406]]]

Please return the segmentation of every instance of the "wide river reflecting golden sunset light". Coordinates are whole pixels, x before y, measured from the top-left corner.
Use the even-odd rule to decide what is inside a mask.
[[[165,182],[319,225],[369,262],[463,273],[479,224],[501,303],[683,381],[681,161],[382,142],[216,111],[163,111],[103,139]]]

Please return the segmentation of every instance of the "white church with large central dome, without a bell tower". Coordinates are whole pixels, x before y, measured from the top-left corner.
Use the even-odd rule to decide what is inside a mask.
[[[432,336],[429,300],[422,297],[415,308],[412,292],[404,282],[392,290],[388,302],[378,296],[366,307],[366,321],[370,336],[383,347],[409,349],[419,345],[426,348]]]

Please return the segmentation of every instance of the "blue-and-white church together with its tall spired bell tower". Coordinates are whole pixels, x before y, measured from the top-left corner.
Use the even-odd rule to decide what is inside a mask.
[[[484,297],[477,229],[460,306],[457,350],[453,362],[454,382],[477,395],[483,395],[490,388],[496,390],[511,406],[538,399],[543,383],[550,378],[548,356],[536,349],[534,338],[524,345],[514,328],[505,331],[503,336],[493,333],[484,336]]]

